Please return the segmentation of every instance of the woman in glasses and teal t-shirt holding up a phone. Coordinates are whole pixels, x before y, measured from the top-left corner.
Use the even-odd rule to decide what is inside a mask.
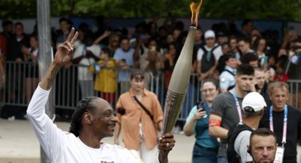
[[[214,78],[206,78],[200,89],[203,102],[198,102],[189,113],[184,126],[186,136],[195,135],[192,162],[211,163],[217,162],[218,142],[215,137],[209,135],[208,121],[210,107],[219,92],[218,81]]]

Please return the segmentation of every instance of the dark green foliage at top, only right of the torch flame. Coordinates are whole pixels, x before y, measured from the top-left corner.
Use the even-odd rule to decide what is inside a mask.
[[[225,18],[233,15],[237,18],[301,21],[299,0],[219,0],[219,3],[205,1],[203,6],[205,17]]]

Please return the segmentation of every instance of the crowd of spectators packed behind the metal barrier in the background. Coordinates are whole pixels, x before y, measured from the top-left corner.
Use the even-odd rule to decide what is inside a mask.
[[[159,16],[154,16],[149,23],[138,23],[133,35],[128,35],[126,28],[108,28],[93,33],[88,24],[80,23],[76,29],[79,39],[75,43],[72,64],[84,65],[76,70],[81,96],[91,96],[93,91],[98,91],[99,96],[114,103],[116,93],[123,94],[130,88],[128,80],[132,68],[146,72],[146,88],[149,88],[152,76],[164,74],[164,84],[160,89],[166,91],[187,31],[181,21],[166,18],[162,26],[158,26],[158,21]],[[0,88],[3,90],[5,81],[17,86],[23,82],[18,77],[25,75],[25,92],[14,87],[9,89],[8,96],[13,101],[20,98],[19,94],[25,94],[25,101],[28,102],[38,84],[38,67],[33,64],[38,62],[39,57],[38,28],[35,25],[33,33],[28,35],[23,32],[22,23],[2,22]],[[52,30],[54,52],[57,45],[67,38],[72,21],[60,18],[59,26],[59,30]],[[214,77],[220,80],[221,91],[227,91],[234,86],[236,67],[242,63],[261,67],[265,72],[266,84],[273,80],[301,79],[300,73],[297,73],[301,65],[301,41],[293,28],[283,35],[281,43],[276,31],[260,31],[251,20],[244,20],[241,29],[238,30],[232,19],[228,23],[214,24],[211,30],[197,28],[191,72],[198,75],[198,81]],[[25,62],[28,65],[7,67],[6,62]],[[72,67],[72,64],[65,68]],[[23,68],[25,74],[21,73]],[[113,68],[118,68],[118,71]],[[11,75],[12,72],[14,75]],[[115,83],[118,83],[118,88]],[[298,95],[301,97],[301,94],[295,94],[294,100]]]

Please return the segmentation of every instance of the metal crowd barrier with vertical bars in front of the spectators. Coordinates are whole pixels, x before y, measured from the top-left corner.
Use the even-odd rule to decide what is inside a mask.
[[[1,106],[28,106],[30,98],[38,86],[38,64],[32,62],[6,62],[6,80],[0,86]],[[123,92],[130,89],[129,74],[133,69],[118,70],[101,68],[95,73],[95,67],[87,67],[79,64],[73,64],[70,67],[62,68],[57,74],[55,81],[55,108],[56,109],[74,109],[76,103],[85,96],[100,96],[106,99],[113,108],[115,102]],[[98,80],[101,91],[94,90],[94,82],[98,73],[102,74]],[[123,77],[123,79],[121,78]],[[145,72],[145,87],[157,94],[162,108],[164,108],[165,90],[164,74],[159,72]],[[290,86],[290,105],[301,106],[301,81],[289,80]],[[188,85],[186,99],[183,103],[183,109],[178,120],[186,120],[189,111],[200,96],[200,82],[196,74],[191,75]],[[300,108],[300,107],[299,107]]]

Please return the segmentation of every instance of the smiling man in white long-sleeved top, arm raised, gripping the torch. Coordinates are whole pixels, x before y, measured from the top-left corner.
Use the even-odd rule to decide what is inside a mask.
[[[51,162],[141,162],[129,150],[118,145],[101,142],[113,136],[117,119],[110,104],[98,97],[86,97],[79,101],[72,116],[69,133],[63,132],[52,123],[45,113],[45,104],[59,69],[72,62],[74,42],[77,38],[72,28],[67,40],[59,45],[55,59],[47,69],[31,99],[27,116],[35,135]],[[159,159],[168,162],[169,151],[174,147],[170,133],[159,137]]]

